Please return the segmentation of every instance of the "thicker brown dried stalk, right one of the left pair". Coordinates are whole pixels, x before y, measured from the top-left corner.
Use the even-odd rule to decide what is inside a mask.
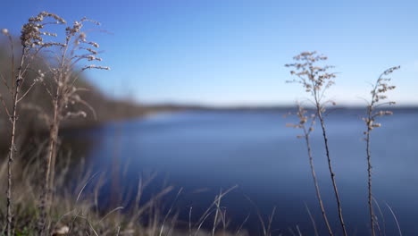
[[[86,61],[102,61],[97,57],[98,52],[95,50],[99,47],[96,42],[88,41],[86,32],[82,31],[83,24],[86,21],[93,22],[99,25],[96,21],[82,18],[80,21],[74,21],[71,26],[65,28],[65,38],[63,43],[55,42],[54,46],[58,47],[57,52],[51,52],[56,58],[56,65],[48,64],[48,71],[51,74],[52,80],[48,83],[42,81],[47,94],[52,99],[53,112],[46,114],[45,121],[50,127],[49,141],[46,151],[46,171],[44,190],[41,197],[41,217],[40,217],[40,232],[48,232],[48,224],[46,223],[47,213],[49,212],[49,204],[53,202],[54,194],[54,175],[56,150],[59,144],[58,133],[61,123],[67,119],[86,117],[87,113],[80,110],[76,105],[86,106],[92,114],[96,117],[94,109],[88,105],[81,97],[79,91],[87,89],[78,88],[76,81],[79,79],[80,72],[87,69],[103,69],[109,70],[109,67],[99,66],[95,64],[81,64]],[[65,22],[65,21],[63,21]],[[79,68],[79,66],[81,66]]]

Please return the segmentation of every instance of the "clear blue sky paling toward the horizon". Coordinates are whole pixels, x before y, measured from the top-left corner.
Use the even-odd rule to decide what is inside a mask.
[[[47,11],[83,16],[110,72],[88,72],[109,96],[141,102],[277,105],[304,99],[283,65],[302,51],[329,56],[339,76],[329,97],[363,103],[390,66],[400,104],[418,104],[418,1],[4,0],[0,28],[18,34]]]

